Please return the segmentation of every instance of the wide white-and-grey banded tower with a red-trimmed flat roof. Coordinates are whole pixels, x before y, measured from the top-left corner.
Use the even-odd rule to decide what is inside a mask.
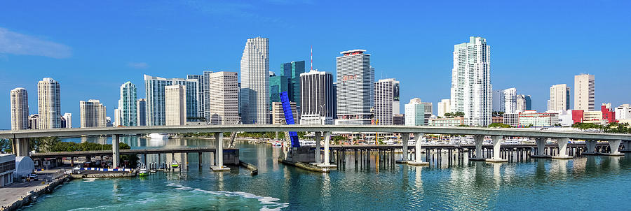
[[[336,124],[370,124],[374,104],[374,68],[366,50],[348,50],[337,57]]]

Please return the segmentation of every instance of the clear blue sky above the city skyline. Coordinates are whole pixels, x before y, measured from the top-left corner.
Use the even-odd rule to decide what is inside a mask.
[[[334,72],[339,52],[372,54],[375,78],[397,78],[401,100],[449,99],[454,44],[491,46],[491,84],[516,87],[545,110],[549,87],[596,75],[596,103],[631,103],[631,1],[6,1],[0,6],[0,129],[9,92],[61,85],[62,112],[79,126],[79,101],[114,114],[119,87],[144,97],[143,74],[239,70],[247,38],[270,39],[270,68],[309,59]],[[308,68],[308,65],[307,65]],[[574,92],[574,90],[572,90]],[[574,94],[574,93],[573,93]],[[574,102],[572,102],[574,105]]]

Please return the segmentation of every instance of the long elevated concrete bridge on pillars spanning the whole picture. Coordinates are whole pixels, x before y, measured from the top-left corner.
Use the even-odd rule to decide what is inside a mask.
[[[618,148],[620,144],[625,145],[625,150],[631,148],[631,135],[617,133],[589,133],[577,131],[548,131],[543,129],[489,129],[476,127],[437,127],[437,126],[379,126],[379,125],[272,125],[272,124],[236,124],[236,125],[184,125],[184,126],[132,126],[132,127],[109,127],[109,128],[76,128],[76,129],[42,129],[42,130],[17,130],[17,131],[0,131],[0,138],[9,138],[12,140],[13,149],[18,156],[28,154],[29,138],[39,138],[46,136],[57,137],[77,137],[77,136],[113,136],[113,157],[118,157],[118,140],[123,135],[147,134],[147,133],[215,133],[215,141],[217,142],[217,170],[222,170],[222,152],[223,152],[223,133],[224,132],[285,132],[285,131],[305,131],[315,132],[316,147],[320,147],[320,134],[324,133],[324,161],[320,161],[320,157],[316,156],[316,163],[323,163],[323,166],[329,165],[329,143],[332,131],[343,132],[379,132],[379,133],[401,133],[402,149],[409,149],[408,140],[410,133],[414,134],[416,140],[416,149],[421,149],[421,137],[427,134],[445,134],[445,135],[471,135],[474,136],[475,157],[471,160],[484,160],[491,162],[505,162],[501,159],[501,142],[504,136],[509,137],[527,137],[535,138],[538,147],[538,156],[545,157],[543,148],[545,142],[550,139],[557,141],[559,154],[553,159],[571,159],[566,154],[566,147],[570,140],[585,140],[588,153],[595,152],[597,141],[606,141],[611,148],[610,155],[618,156]],[[482,143],[484,136],[490,136],[492,140],[491,159],[482,157]],[[415,150],[420,153],[420,150]],[[319,152],[316,152],[319,154]],[[315,155],[314,155],[315,156]],[[420,156],[416,156],[420,157]],[[118,161],[114,159],[114,164]],[[402,163],[425,164],[422,161],[409,161],[404,156]],[[213,168],[215,169],[215,168]]]

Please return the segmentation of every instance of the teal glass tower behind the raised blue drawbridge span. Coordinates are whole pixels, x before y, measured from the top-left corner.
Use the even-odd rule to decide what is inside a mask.
[[[280,75],[287,77],[287,94],[290,102],[296,102],[296,107],[301,110],[300,104],[300,74],[304,73],[304,61],[292,61],[280,66]],[[276,101],[275,101],[276,102]],[[280,101],[278,101],[280,102]]]

